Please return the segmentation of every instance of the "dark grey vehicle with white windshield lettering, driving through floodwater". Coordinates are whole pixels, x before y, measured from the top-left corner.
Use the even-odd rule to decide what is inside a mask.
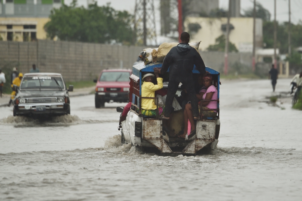
[[[14,85],[14,116],[67,115],[70,114],[68,92],[59,73],[24,74],[20,87]]]

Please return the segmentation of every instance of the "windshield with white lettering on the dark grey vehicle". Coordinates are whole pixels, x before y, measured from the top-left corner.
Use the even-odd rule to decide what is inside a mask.
[[[64,84],[61,77],[50,77],[50,76],[24,77],[20,89],[61,90],[64,89]]]

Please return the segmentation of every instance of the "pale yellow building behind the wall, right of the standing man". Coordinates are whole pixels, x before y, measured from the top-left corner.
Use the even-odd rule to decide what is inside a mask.
[[[207,51],[207,47],[215,44],[215,39],[226,34],[227,18],[187,17],[185,30],[191,33],[190,41],[201,41],[199,50]],[[262,48],[262,19],[256,19],[256,48]],[[239,52],[252,52],[253,49],[253,18],[230,18],[230,42]]]

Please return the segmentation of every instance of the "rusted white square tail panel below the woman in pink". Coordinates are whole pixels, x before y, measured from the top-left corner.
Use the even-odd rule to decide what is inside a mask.
[[[197,124],[197,139],[202,140],[215,140],[215,130],[216,130],[216,121],[207,120],[207,121],[198,121]]]

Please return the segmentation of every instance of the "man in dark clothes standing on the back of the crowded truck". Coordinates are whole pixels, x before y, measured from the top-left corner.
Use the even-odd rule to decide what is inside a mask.
[[[180,36],[181,43],[173,47],[170,52],[165,56],[162,63],[161,74],[169,70],[169,84],[168,93],[165,102],[164,119],[169,119],[172,111],[172,102],[178,85],[181,82],[188,93],[189,100],[191,101],[194,119],[199,119],[198,101],[194,90],[193,68],[194,64],[201,75],[206,74],[204,61],[196,49],[189,46],[190,35],[183,32]]]

